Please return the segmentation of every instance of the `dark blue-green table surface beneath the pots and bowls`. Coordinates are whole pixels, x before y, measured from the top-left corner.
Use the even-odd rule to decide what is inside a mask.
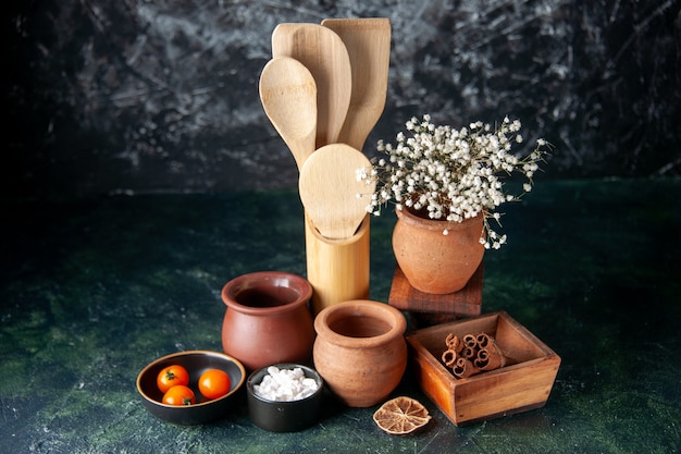
[[[0,226],[0,452],[669,453],[681,446],[680,180],[541,182],[485,256],[483,312],[506,310],[562,358],[545,407],[457,428],[409,373],[394,395],[433,420],[383,433],[374,407],[325,401],[272,433],[245,396],[214,424],[152,417],[139,370],[220,351],[220,290],[250,271],[305,275],[295,192],[4,201]],[[371,220],[371,297],[387,300],[394,217]]]

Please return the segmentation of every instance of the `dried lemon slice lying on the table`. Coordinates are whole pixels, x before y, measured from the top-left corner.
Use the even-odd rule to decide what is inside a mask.
[[[373,420],[387,433],[404,435],[425,426],[431,416],[419,401],[403,396],[381,405]]]

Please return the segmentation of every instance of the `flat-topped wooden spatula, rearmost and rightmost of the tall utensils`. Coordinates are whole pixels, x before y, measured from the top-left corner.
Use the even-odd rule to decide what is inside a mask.
[[[352,95],[338,142],[361,150],[383,113],[391,62],[391,20],[326,19],[345,44],[352,69]]]

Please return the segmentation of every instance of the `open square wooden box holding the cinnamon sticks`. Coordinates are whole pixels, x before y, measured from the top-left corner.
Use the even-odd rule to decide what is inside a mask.
[[[458,379],[441,360],[445,339],[480,332],[495,338],[506,365]],[[560,366],[554,351],[505,311],[424,328],[407,343],[421,389],[456,426],[543,407]]]

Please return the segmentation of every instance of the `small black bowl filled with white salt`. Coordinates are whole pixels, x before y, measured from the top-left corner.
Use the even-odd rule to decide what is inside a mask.
[[[268,367],[256,370],[246,381],[248,415],[253,424],[272,432],[297,432],[314,425],[319,420],[324,380],[314,369],[298,364],[275,364],[280,369],[299,367],[306,377],[314,379],[318,389],[314,394],[298,400],[277,402],[256,394],[253,385],[260,384],[268,375]]]

